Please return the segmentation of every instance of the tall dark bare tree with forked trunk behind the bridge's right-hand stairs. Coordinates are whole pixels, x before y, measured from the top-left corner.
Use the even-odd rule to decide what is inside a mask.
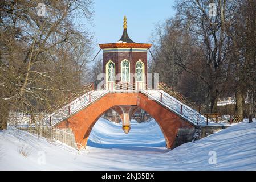
[[[216,5],[216,16],[210,16],[209,3]],[[227,89],[229,82],[229,46],[227,35],[229,24],[235,21],[232,13],[234,1],[178,1],[177,10],[180,20],[186,24],[190,34],[196,38],[204,52],[207,74],[202,77],[208,85],[210,111],[216,111],[218,98]],[[193,70],[190,70],[194,72]]]

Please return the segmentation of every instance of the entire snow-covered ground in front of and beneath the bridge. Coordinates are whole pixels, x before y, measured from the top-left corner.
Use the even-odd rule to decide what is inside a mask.
[[[27,157],[18,150],[27,147]],[[209,155],[210,152],[210,155]],[[209,164],[214,161],[216,164]],[[213,159],[213,160],[212,160]],[[83,152],[25,131],[0,131],[0,170],[256,170],[256,121],[244,121],[170,151],[156,122],[121,125],[100,119]]]

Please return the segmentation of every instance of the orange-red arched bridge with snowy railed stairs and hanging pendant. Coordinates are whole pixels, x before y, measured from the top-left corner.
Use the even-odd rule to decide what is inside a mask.
[[[76,143],[86,145],[94,124],[111,108],[120,114],[125,133],[128,133],[129,120],[137,108],[145,110],[159,124],[168,148],[174,147],[179,129],[216,125],[163,90],[90,91],[51,114],[47,122],[58,128],[71,128]]]

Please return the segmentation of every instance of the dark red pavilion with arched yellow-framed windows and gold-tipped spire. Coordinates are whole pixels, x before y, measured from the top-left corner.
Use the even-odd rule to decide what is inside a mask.
[[[127,33],[124,16],[123,35],[116,43],[99,44],[103,49],[105,88],[115,90],[116,84],[127,84],[133,89],[145,89],[147,84],[147,53],[151,44],[135,43]]]

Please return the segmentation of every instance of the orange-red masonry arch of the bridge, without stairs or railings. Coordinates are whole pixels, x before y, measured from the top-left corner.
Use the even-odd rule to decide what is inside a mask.
[[[72,114],[68,119],[58,123],[56,127],[71,128],[75,132],[76,142],[86,145],[92,127],[97,120],[105,111],[116,105],[136,105],[150,114],[162,130],[167,148],[174,147],[178,129],[194,127],[163,105],[150,100],[143,93],[108,93],[77,113]]]

